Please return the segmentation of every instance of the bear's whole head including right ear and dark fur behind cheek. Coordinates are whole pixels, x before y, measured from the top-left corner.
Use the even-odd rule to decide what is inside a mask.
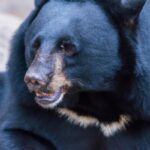
[[[67,107],[82,93],[128,89],[135,69],[130,37],[144,2],[37,0],[40,11],[25,35],[24,78],[36,102]]]

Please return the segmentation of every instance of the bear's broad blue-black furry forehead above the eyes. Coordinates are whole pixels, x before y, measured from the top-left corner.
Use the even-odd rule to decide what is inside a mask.
[[[97,37],[98,34],[100,38],[105,36],[106,33],[111,34],[111,31],[113,32],[111,35],[116,35],[111,20],[105,11],[98,4],[89,1],[81,5],[80,3],[77,5],[71,3],[72,1],[65,3],[65,0],[49,1],[43,6],[28,28],[27,41],[34,39],[38,34],[44,34],[48,37],[49,35],[54,36],[57,33],[62,33],[62,31],[68,33],[70,30],[86,35],[84,39],[91,39],[91,36]],[[59,32],[60,30],[61,32]],[[94,39],[92,38],[92,41]]]

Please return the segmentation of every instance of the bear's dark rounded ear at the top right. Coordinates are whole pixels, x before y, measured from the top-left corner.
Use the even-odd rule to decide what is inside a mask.
[[[107,0],[109,11],[127,26],[135,25],[146,0]]]

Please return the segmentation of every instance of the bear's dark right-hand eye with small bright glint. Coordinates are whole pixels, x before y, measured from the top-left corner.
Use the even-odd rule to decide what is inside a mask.
[[[76,46],[71,41],[63,41],[60,44],[60,49],[68,56],[73,56],[77,53]]]

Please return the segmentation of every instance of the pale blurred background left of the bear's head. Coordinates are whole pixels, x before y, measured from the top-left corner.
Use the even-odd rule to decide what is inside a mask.
[[[0,71],[6,71],[14,32],[34,8],[34,0],[0,0]]]

